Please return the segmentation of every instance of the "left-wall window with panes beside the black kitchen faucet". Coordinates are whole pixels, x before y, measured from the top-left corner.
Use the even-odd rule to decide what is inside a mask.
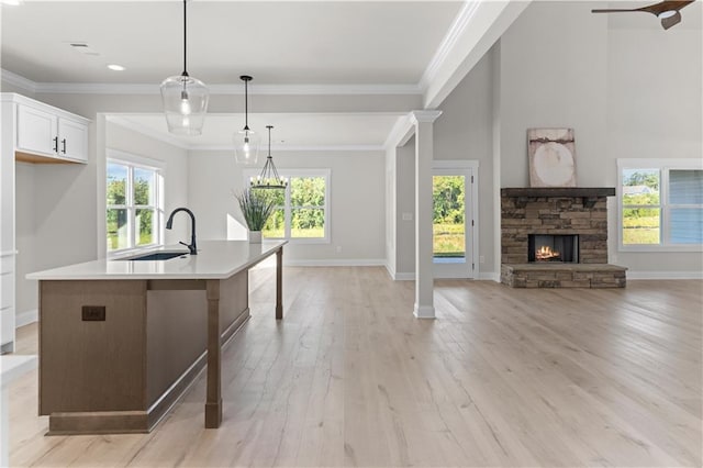
[[[108,253],[163,242],[163,170],[147,164],[108,158],[105,224]]]

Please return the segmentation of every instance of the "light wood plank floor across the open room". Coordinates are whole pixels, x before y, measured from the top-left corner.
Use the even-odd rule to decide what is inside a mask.
[[[437,281],[436,321],[382,268],[252,272],[224,350],[150,434],[46,437],[36,372],[11,389],[12,466],[701,466],[702,287],[520,290]],[[19,350],[36,352],[36,326]]]

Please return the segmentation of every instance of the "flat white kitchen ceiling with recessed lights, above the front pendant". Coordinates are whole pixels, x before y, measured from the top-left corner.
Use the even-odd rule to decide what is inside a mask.
[[[243,74],[269,85],[415,85],[461,3],[190,0],[188,71],[208,85]],[[3,5],[2,67],[36,82],[159,83],[182,71],[182,10],[178,0]]]

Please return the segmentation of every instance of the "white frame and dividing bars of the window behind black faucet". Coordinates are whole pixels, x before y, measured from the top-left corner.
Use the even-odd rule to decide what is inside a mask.
[[[144,156],[137,156],[134,154],[121,152],[118,149],[108,149],[105,155],[105,209],[104,209],[104,223],[105,223],[105,255],[108,258],[122,257],[125,254],[132,254],[137,252],[150,250],[155,247],[164,245],[164,223],[165,223],[165,210],[164,210],[164,187],[166,179],[166,164],[164,161],[147,158]],[[108,203],[108,166],[110,164],[119,164],[127,167],[127,179],[125,188],[125,204],[109,204]],[[155,172],[154,180],[154,204],[135,204],[134,203],[134,170],[146,169]],[[107,227],[108,227],[108,210],[110,209],[125,209],[127,211],[127,247],[116,248],[111,250],[109,243],[107,242]],[[156,229],[156,242],[144,245],[136,245],[136,211],[137,210],[154,210],[153,225]]]

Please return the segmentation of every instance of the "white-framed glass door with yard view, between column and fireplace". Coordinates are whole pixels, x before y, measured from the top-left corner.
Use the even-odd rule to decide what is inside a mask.
[[[435,278],[473,278],[471,168],[435,168],[432,181]]]

